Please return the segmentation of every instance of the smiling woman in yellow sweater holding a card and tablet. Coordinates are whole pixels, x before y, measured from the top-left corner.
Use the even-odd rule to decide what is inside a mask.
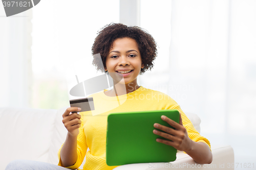
[[[114,86],[111,90],[103,90],[91,95],[97,110],[71,114],[80,110],[71,107],[63,113],[62,122],[68,134],[58,153],[58,165],[76,169],[86,156],[83,169],[115,168],[116,166],[108,166],[105,162],[107,115],[122,111],[163,109],[179,110],[180,123],[161,116],[175,130],[155,124],[156,129],[164,132],[154,130],[152,133],[166,138],[166,140],[157,139],[157,142],[186,152],[198,163],[211,163],[209,141],[195,130],[180,106],[168,95],[146,89],[137,83],[138,75],[153,67],[157,55],[156,43],[150,34],[139,27],[111,23],[98,33],[92,54],[100,54],[103,67],[96,57],[93,64],[98,70],[110,74]],[[88,148],[90,151],[86,153]]]

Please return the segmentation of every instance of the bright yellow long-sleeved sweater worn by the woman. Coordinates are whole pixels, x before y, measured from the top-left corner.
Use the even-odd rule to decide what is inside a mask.
[[[189,138],[193,141],[205,142],[210,147],[208,139],[198,133],[180,109],[180,106],[162,92],[140,86],[140,88],[131,93],[117,97],[107,96],[103,91],[91,96],[94,100],[95,110],[80,113],[82,124],[77,137],[78,158],[74,165],[67,168],[77,169],[83,162],[84,156],[86,156],[86,163],[83,165],[83,170],[113,169],[117,167],[106,165],[105,159],[107,117],[108,114],[114,112],[177,109],[181,113],[182,123],[187,130]],[[87,152],[88,147],[90,151]],[[61,148],[58,152],[58,165],[61,166],[60,150]]]

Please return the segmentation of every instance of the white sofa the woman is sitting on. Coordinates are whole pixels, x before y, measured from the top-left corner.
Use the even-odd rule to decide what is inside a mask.
[[[5,169],[14,159],[57,164],[57,152],[67,135],[67,130],[62,124],[62,114],[65,110],[66,108],[59,110],[0,108],[0,170]],[[186,115],[200,132],[200,118],[196,114],[186,113]],[[221,169],[232,169],[228,168],[228,164],[234,163],[234,153],[230,146],[212,148],[212,154],[211,164],[197,164],[187,154],[178,152],[174,162],[128,164],[118,166],[115,170],[219,169],[223,164],[225,165]]]

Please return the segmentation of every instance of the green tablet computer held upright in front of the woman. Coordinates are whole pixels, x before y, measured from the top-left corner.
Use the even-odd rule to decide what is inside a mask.
[[[177,150],[170,145],[157,142],[157,138],[165,138],[153,133],[156,129],[155,123],[173,128],[161,119],[161,115],[179,123],[178,110],[109,114],[106,131],[106,164],[117,166],[130,163],[175,161]]]

